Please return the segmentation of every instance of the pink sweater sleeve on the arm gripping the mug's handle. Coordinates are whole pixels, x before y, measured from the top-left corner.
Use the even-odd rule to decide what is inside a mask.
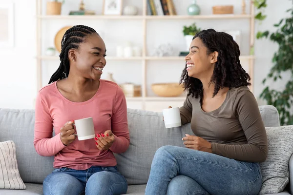
[[[34,147],[41,156],[54,156],[65,147],[59,134],[52,137],[52,122],[44,96],[39,92],[35,108]]]

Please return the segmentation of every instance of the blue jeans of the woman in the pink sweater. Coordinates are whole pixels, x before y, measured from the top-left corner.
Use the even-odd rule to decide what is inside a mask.
[[[55,169],[43,181],[44,195],[121,195],[127,181],[114,167],[90,167],[87,170]]]

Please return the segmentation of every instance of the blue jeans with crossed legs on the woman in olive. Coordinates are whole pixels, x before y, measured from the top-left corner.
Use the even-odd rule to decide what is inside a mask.
[[[261,185],[258,163],[163,146],[153,158],[146,195],[257,195]]]

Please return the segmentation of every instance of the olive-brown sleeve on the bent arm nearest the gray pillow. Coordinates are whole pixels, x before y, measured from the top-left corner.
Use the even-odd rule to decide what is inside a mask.
[[[212,153],[241,161],[265,161],[268,155],[266,129],[256,99],[249,90],[242,90],[238,93],[233,111],[248,143],[241,145],[211,143]]]

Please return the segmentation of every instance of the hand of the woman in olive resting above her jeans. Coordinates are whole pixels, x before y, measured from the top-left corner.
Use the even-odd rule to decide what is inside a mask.
[[[185,136],[186,137],[183,137],[182,140],[184,140],[186,148],[211,153],[211,144],[206,139],[197,136],[190,136],[188,134],[185,134]]]

